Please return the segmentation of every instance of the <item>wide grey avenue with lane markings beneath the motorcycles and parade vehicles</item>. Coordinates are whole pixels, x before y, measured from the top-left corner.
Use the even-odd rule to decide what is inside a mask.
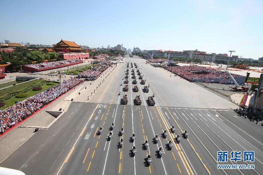
[[[125,62],[136,62],[142,68],[148,93],[136,75],[139,92],[133,91],[131,72],[129,91],[124,92],[122,77]],[[237,106],[205,88],[172,76],[164,69],[154,68],[145,60],[124,58],[118,63],[108,82],[103,83],[93,98],[86,99],[85,90],[72,101],[68,110],[49,128],[35,133],[21,148],[15,151],[1,166],[19,169],[25,174],[262,174],[263,147],[261,126],[238,117],[230,108]],[[124,68],[123,68],[124,67]],[[130,67],[129,67],[130,68]],[[135,68],[134,68],[135,69]],[[135,69],[136,70],[136,69]],[[114,75],[114,76],[113,76]],[[121,91],[121,95],[118,92]],[[149,106],[147,97],[155,93],[155,106]],[[128,95],[128,104],[122,104],[122,95]],[[134,104],[136,95],[142,104]],[[83,96],[83,99],[80,97]],[[113,138],[107,139],[112,122],[115,122]],[[163,129],[174,125],[167,138]],[[98,134],[98,128],[103,132]],[[124,127],[124,146],[120,148],[120,128]],[[188,139],[182,137],[187,129]],[[131,140],[135,132],[136,139]],[[160,141],[153,138],[158,134]],[[174,141],[176,134],[181,142]],[[149,148],[145,149],[144,139]],[[170,150],[168,140],[173,141]],[[131,147],[137,153],[131,153]],[[165,154],[160,157],[158,146]],[[217,169],[217,151],[255,151],[255,169]],[[153,162],[148,165],[147,154]],[[230,158],[230,155],[229,155]],[[247,164],[242,161],[219,164]]]

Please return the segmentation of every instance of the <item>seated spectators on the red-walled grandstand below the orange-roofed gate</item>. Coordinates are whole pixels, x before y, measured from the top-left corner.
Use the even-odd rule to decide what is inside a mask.
[[[27,64],[25,66],[32,67],[34,69],[43,69],[49,67],[56,67],[76,62],[81,62],[82,60],[72,59],[72,60],[62,60],[62,61],[54,61],[54,62],[46,62],[46,63],[39,63],[39,64]]]

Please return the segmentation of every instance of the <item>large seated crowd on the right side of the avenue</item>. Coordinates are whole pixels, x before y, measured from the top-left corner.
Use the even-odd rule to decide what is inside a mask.
[[[205,82],[207,80],[215,79],[229,79],[230,76],[224,72],[215,69],[208,69],[200,66],[177,66],[166,67],[168,71],[181,76],[188,81]],[[241,75],[231,74],[233,78],[241,77]]]

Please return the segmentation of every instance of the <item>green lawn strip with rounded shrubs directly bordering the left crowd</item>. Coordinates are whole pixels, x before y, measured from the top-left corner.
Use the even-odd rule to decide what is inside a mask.
[[[15,100],[16,100],[16,101],[18,101],[18,100],[19,100],[19,101],[23,101],[23,100],[25,100],[25,99],[27,99],[27,98],[29,98],[29,97],[32,97],[32,96],[38,94],[39,92],[42,92],[42,91],[44,91],[44,90],[46,90],[46,89],[48,89],[48,88],[51,88],[51,87],[53,87],[53,86],[55,86],[55,85],[57,85],[57,84],[58,84],[58,83],[55,83],[54,85],[46,85],[46,83],[45,83],[43,86],[41,86],[41,87],[43,88],[42,90],[38,90],[38,91],[29,90],[29,91],[26,92],[26,93],[28,94],[28,96],[27,96],[27,97],[24,97],[24,98],[15,98],[15,96],[13,96],[13,97],[11,97],[11,99],[8,99],[8,100],[6,100],[6,101],[3,101],[3,102],[6,104],[6,106],[0,108],[0,110],[3,110],[3,109],[5,109],[5,108],[8,108],[9,106],[14,105],[14,104],[15,104]]]

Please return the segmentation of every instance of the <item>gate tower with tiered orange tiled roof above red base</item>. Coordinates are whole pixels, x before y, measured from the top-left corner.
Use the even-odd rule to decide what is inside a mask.
[[[65,41],[61,39],[57,44],[53,44],[53,50],[55,52],[65,52],[65,53],[80,53],[83,49],[81,46],[77,45],[74,41]]]

